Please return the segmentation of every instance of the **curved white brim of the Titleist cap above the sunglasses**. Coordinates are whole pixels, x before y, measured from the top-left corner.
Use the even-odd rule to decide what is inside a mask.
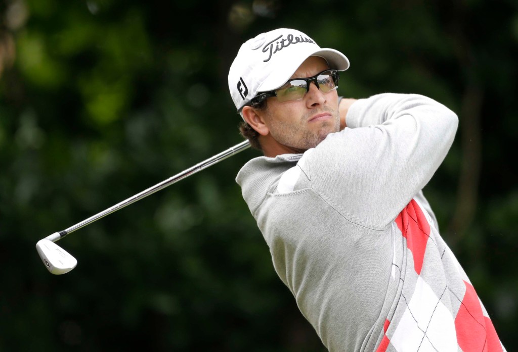
[[[330,69],[345,71],[349,68],[349,59],[346,55],[343,55],[335,49],[320,49],[305,56],[298,56],[297,59],[291,60],[285,65],[279,65],[257,88],[257,93],[261,91],[274,90],[282,86],[291,78],[298,67],[310,56],[323,57],[327,61]]]

